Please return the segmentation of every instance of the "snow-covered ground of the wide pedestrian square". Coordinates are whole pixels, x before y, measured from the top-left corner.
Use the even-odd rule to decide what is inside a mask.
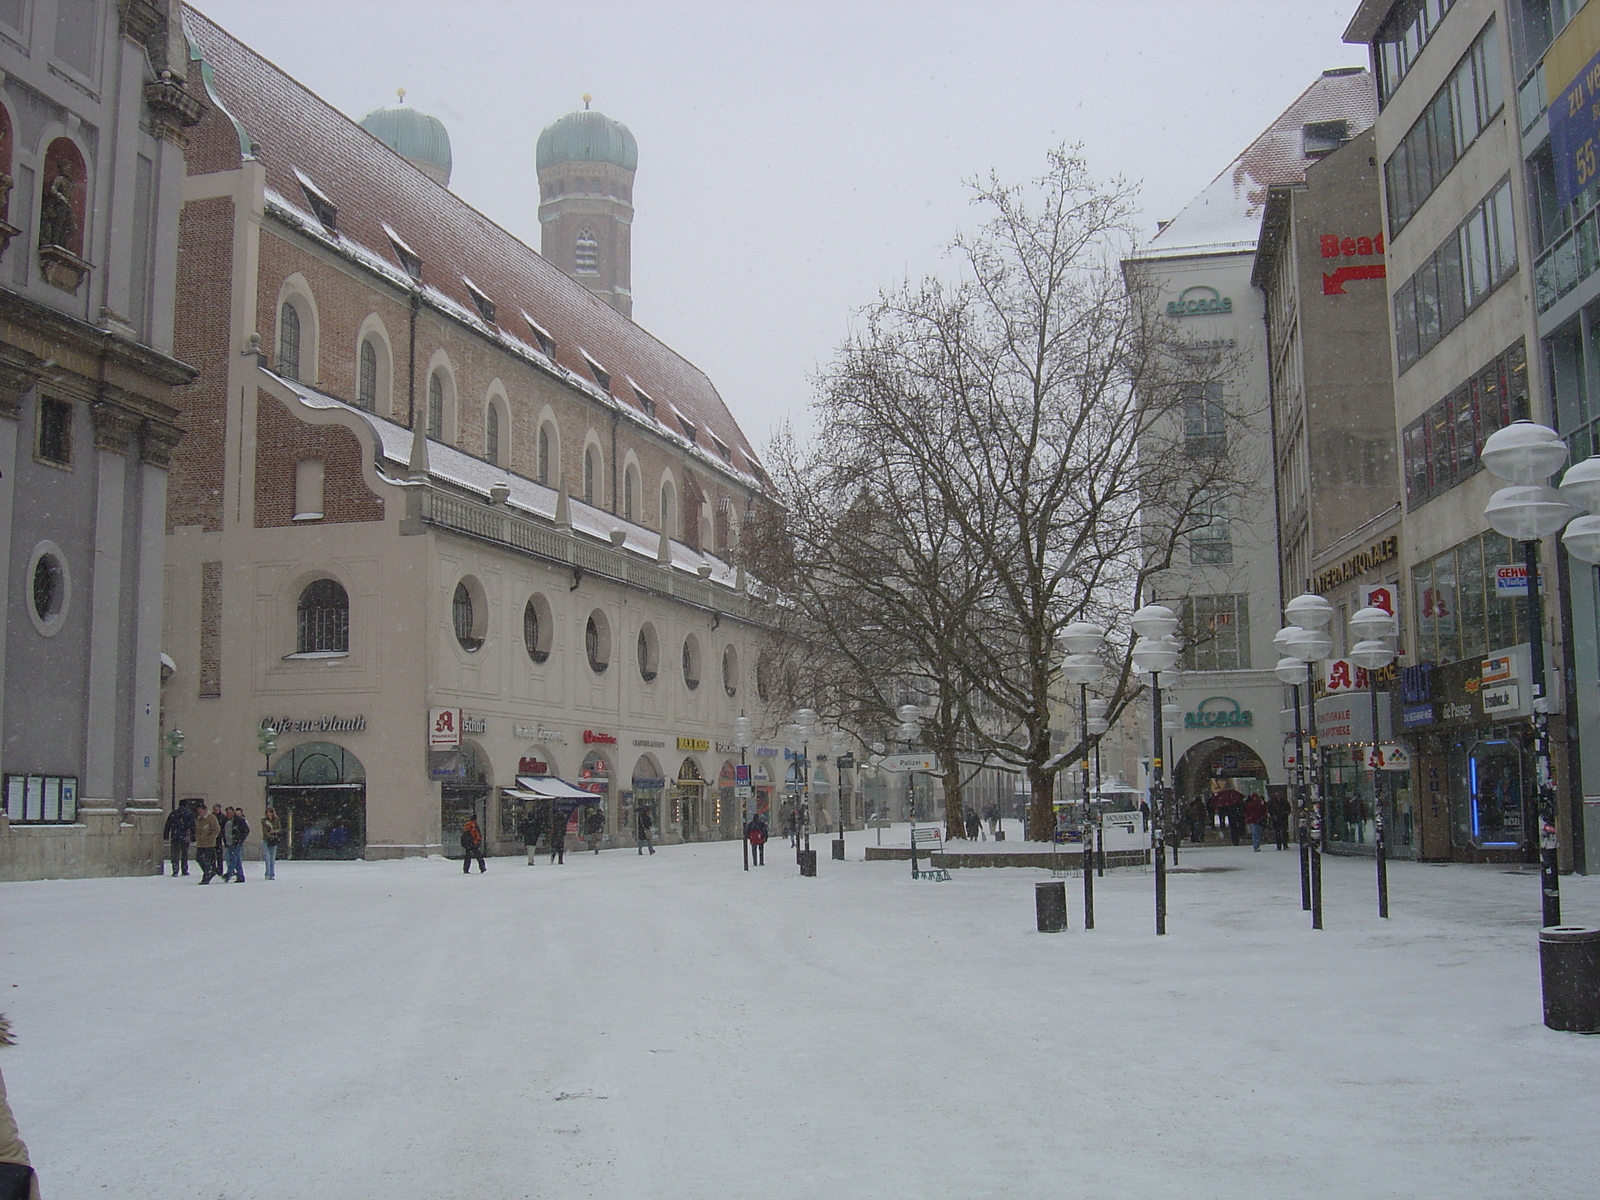
[[[885,830],[904,838],[904,830]],[[813,838],[0,885],[45,1200],[1595,1195],[1600,1037],[1541,1024],[1538,878],[1186,851],[1098,925],[1038,870]],[[1568,878],[1600,923],[1600,878]]]

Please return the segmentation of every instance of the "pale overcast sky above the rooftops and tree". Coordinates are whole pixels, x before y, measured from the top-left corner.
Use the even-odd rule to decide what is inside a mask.
[[[638,138],[634,318],[706,370],[752,443],[851,314],[941,269],[963,182],[1083,142],[1173,216],[1325,67],[1355,0],[200,0],[350,117],[442,118],[451,187],[539,245],[533,147],[594,107]]]

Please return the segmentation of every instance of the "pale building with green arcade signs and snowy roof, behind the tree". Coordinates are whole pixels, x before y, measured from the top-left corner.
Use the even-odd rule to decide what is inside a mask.
[[[1182,616],[1194,642],[1178,706],[1158,747],[1184,800],[1226,786],[1242,794],[1285,787],[1274,675],[1280,565],[1274,512],[1274,442],[1267,322],[1253,285],[1269,192],[1373,122],[1373,80],[1360,67],[1323,72],[1128,264],[1157,285],[1189,352],[1222,363],[1227,378],[1195,384],[1184,435],[1194,453],[1227,451],[1250,478],[1211,498],[1211,520],[1187,538],[1155,598]]]

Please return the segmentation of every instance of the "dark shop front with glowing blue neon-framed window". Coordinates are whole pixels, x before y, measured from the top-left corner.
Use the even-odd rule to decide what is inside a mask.
[[[1402,722],[1422,786],[1421,856],[1534,862],[1528,645],[1402,672]]]

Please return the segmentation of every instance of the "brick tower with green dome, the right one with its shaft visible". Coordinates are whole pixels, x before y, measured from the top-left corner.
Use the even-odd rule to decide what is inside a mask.
[[[584,96],[539,134],[536,163],[539,253],[632,318],[634,134]]]

